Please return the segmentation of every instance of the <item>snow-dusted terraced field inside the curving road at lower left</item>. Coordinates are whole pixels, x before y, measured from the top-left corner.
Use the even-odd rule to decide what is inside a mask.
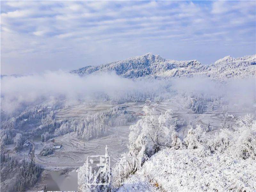
[[[48,163],[80,163],[86,161],[90,155],[104,155],[105,147],[108,146],[111,163],[114,157],[128,151],[129,126],[112,127],[108,136],[81,141],[76,139],[76,132],[55,137],[55,143],[61,143],[62,147],[49,156],[40,156],[40,150],[36,150],[37,157]],[[52,142],[44,142],[50,145]]]

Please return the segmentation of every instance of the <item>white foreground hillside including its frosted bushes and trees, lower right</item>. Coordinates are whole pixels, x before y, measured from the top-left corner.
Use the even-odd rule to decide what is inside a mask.
[[[196,128],[191,127],[186,137],[184,135],[179,137],[174,131],[170,134],[171,144],[162,146],[158,152],[148,158],[147,154],[150,154],[148,149],[152,149],[150,145],[155,145],[155,142],[148,142],[150,137],[149,140],[142,141],[146,138],[144,135],[150,132],[150,127],[141,129],[141,126],[131,126],[130,129],[135,131],[130,133],[131,136],[136,135],[138,129],[138,133],[142,134],[137,133],[138,138],[133,140],[129,138],[130,142],[132,141],[129,154],[132,154],[132,157],[137,154],[139,159],[146,156],[146,160],[142,167],[138,167],[135,174],[129,175],[118,192],[157,191],[156,189],[158,191],[255,191],[254,116],[240,117],[232,128],[223,128],[213,134],[199,124]],[[168,135],[162,136],[167,139]],[[136,148],[133,148],[134,145]],[[138,153],[133,153],[138,149],[140,150]],[[123,162],[122,166],[124,166]]]

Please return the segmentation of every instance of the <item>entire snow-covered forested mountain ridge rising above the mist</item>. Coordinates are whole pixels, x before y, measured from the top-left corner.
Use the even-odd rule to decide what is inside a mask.
[[[87,76],[102,72],[115,72],[127,78],[151,77],[170,78],[203,75],[212,79],[243,78],[255,75],[256,55],[241,58],[226,56],[211,65],[202,65],[197,60],[167,60],[159,55],[147,53],[126,60],[100,66],[87,66],[70,73]]]

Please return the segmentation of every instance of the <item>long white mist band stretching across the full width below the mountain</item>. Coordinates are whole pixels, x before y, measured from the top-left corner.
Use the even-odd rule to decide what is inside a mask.
[[[1,109],[13,113],[38,101],[60,95],[67,100],[78,100],[90,98],[97,93],[121,97],[129,92],[154,92],[165,97],[179,92],[225,95],[230,104],[252,106],[255,103],[255,79],[237,79],[226,84],[218,84],[203,77],[139,81],[122,78],[114,73],[81,77],[63,71],[21,77],[7,76],[1,79]]]

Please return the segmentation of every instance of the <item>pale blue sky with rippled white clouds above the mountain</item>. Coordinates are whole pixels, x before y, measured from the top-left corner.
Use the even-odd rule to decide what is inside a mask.
[[[1,1],[1,74],[255,54],[255,1]]]

